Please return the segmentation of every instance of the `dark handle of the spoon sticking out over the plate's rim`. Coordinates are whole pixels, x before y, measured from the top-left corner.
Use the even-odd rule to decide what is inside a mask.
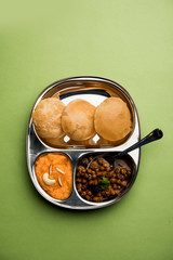
[[[120,152],[117,156],[123,156],[124,154],[128,154],[129,152],[138,148],[147,143],[154,142],[156,140],[159,140],[163,136],[163,132],[160,129],[155,129],[152,132],[150,132],[148,135],[146,135],[144,139],[139,140],[137,143],[133,144],[131,147],[124,150],[123,152]],[[117,157],[116,156],[116,157]]]

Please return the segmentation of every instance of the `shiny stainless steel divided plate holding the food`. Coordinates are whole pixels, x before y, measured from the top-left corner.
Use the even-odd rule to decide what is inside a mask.
[[[121,99],[129,102],[129,105],[131,106],[131,109],[133,112],[134,130],[131,136],[123,144],[120,144],[118,146],[102,145],[101,147],[96,147],[96,146],[85,147],[84,145],[80,145],[80,146],[68,145],[64,147],[51,147],[50,145],[45,144],[43,140],[41,140],[37,135],[32,125],[31,114],[41,99],[53,96],[54,94],[57,94],[57,93],[59,94],[59,99],[63,100],[65,104],[67,104],[69,101],[74,99],[80,98],[89,101],[94,105],[98,105],[103,100],[111,95],[121,96]],[[43,92],[38,96],[30,113],[30,118],[29,118],[28,128],[27,128],[27,136],[26,136],[26,155],[27,155],[27,165],[28,165],[30,178],[37,191],[45,199],[48,199],[50,203],[54,205],[57,205],[64,208],[82,209],[82,210],[106,207],[108,205],[119,202],[132,187],[136,179],[138,167],[139,167],[141,148],[137,148],[129,153],[129,159],[133,164],[133,177],[128,188],[119,197],[116,197],[109,202],[103,202],[103,203],[92,203],[92,202],[84,200],[78,194],[76,188],[76,167],[78,165],[79,158],[81,158],[81,156],[89,153],[102,154],[105,152],[115,152],[115,153],[120,152],[131,146],[133,143],[137,142],[139,139],[141,139],[141,128],[139,128],[137,109],[131,95],[128,93],[128,91],[123,87],[121,87],[115,81],[111,81],[105,78],[98,78],[98,77],[74,77],[74,78],[67,78],[67,79],[56,81],[53,84],[49,86],[46,89],[44,89]],[[68,197],[66,200],[57,200],[51,197],[50,195],[48,195],[38,183],[35,174],[36,159],[40,155],[44,153],[51,153],[51,152],[64,153],[72,161],[72,171],[74,171],[72,192],[70,197]]]

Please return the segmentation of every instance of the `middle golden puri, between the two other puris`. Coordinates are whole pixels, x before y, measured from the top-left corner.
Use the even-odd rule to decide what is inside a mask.
[[[84,100],[71,101],[63,112],[62,127],[64,132],[75,141],[83,141],[95,134],[95,106]]]

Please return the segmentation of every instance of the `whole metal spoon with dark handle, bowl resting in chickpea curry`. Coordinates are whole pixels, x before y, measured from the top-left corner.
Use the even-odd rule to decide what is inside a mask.
[[[116,154],[116,155],[110,155],[110,154],[103,154],[95,156],[90,164],[88,165],[88,169],[90,168],[91,164],[96,160],[98,157],[103,157],[105,160],[107,160],[110,164],[110,167],[112,167],[115,159],[128,154],[129,152],[136,150],[147,143],[154,142],[156,140],[159,140],[163,136],[163,132],[160,129],[155,129],[152,132],[150,132],[148,135],[146,135],[144,139],[139,140],[137,143],[133,144],[129,148]]]

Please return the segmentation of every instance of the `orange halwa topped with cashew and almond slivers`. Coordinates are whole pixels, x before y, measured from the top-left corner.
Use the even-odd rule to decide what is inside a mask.
[[[64,200],[72,191],[72,165],[65,154],[46,153],[36,160],[35,172],[40,186],[51,197]]]

